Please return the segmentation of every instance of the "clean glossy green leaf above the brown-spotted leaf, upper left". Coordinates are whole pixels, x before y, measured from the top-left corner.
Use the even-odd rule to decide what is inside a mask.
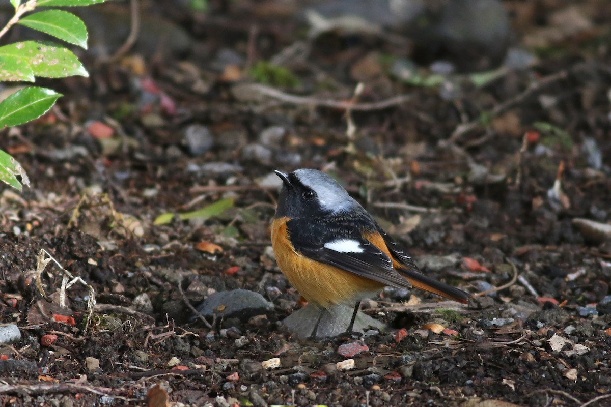
[[[87,49],[87,27],[80,18],[64,10],[46,10],[22,18],[18,24]]]

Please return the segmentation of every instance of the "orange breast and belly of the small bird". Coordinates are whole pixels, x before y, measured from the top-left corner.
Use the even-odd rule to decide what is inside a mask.
[[[378,281],[296,253],[287,238],[287,221],[288,218],[274,219],[271,227],[272,247],[280,271],[308,301],[331,308],[336,304],[360,300],[384,287]]]

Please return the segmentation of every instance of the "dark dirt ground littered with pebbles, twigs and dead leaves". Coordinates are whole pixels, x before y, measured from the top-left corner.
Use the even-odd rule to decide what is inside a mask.
[[[503,2],[529,62],[473,75],[400,29],[312,34],[299,2],[186,3],[142,1],[114,59],[129,5],[87,11],[90,77],[0,137],[31,179],[0,187],[2,405],[611,406],[610,4]],[[285,331],[268,225],[296,168],[474,299],[385,289],[387,330]],[[233,289],[273,308],[195,316]]]

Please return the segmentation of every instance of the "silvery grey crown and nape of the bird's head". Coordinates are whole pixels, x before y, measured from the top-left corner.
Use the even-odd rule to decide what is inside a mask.
[[[301,184],[316,193],[323,209],[338,213],[359,206],[359,203],[348,195],[342,185],[321,171],[302,168],[293,171],[293,174],[299,178]]]

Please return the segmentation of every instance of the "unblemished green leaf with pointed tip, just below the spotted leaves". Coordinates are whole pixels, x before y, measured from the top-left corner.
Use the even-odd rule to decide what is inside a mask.
[[[0,129],[34,120],[51,109],[60,93],[51,89],[29,87],[18,90],[0,102]]]

